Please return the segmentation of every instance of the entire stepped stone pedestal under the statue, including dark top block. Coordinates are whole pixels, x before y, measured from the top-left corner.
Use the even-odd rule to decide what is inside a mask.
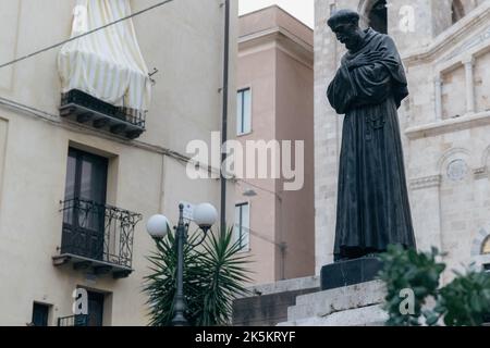
[[[326,265],[321,276],[252,288],[252,297],[233,302],[237,326],[381,326],[384,285],[375,281],[376,258]]]

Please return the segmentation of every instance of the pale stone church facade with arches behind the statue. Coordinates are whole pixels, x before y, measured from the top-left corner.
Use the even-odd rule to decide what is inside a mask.
[[[389,34],[411,96],[399,110],[417,247],[449,269],[490,264],[490,0],[316,0],[317,273],[333,260],[342,116],[326,90],[344,48],[326,21],[353,9]],[[448,272],[445,279],[451,277]]]

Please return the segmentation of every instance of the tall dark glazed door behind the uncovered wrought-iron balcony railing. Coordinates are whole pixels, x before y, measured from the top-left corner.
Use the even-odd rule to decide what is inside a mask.
[[[108,159],[70,148],[62,252],[101,260]]]

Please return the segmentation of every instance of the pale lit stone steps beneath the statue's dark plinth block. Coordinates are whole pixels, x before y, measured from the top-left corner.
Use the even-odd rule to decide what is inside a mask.
[[[384,296],[380,281],[298,296],[278,326],[382,326]]]

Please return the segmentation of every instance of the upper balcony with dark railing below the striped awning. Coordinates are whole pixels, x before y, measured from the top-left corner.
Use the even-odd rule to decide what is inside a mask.
[[[145,132],[145,112],[114,107],[78,89],[61,96],[60,115],[127,139]]]

